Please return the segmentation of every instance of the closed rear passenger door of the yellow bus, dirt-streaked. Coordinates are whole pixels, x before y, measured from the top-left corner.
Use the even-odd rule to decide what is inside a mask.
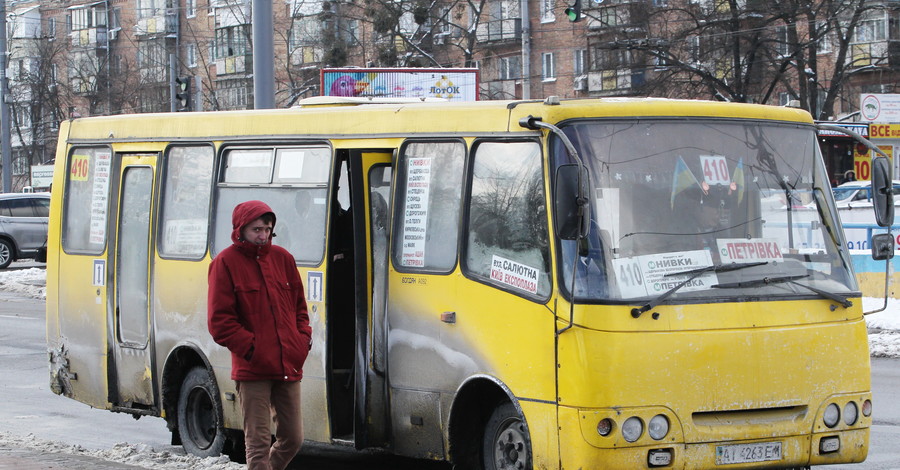
[[[149,409],[155,405],[150,326],[150,236],[156,154],[122,155],[115,200],[115,245],[110,250],[108,318],[110,401],[113,406]]]

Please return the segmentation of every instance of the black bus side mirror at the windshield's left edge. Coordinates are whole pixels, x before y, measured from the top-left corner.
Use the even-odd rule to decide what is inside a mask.
[[[562,165],[556,170],[556,235],[562,240],[577,240],[590,229],[591,207],[588,203],[587,169],[577,164]]]

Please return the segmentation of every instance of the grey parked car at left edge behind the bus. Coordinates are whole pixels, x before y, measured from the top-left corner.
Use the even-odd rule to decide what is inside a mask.
[[[49,193],[0,194],[0,269],[17,259],[46,259],[49,217]]]

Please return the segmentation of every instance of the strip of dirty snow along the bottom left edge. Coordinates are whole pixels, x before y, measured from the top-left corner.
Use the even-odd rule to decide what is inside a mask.
[[[38,452],[64,453],[95,457],[154,470],[244,470],[246,466],[228,460],[228,457],[207,457],[201,459],[193,455],[157,451],[145,444],[119,443],[111,449],[89,450],[78,445],[38,439],[34,434],[16,436],[0,431],[0,444]]]

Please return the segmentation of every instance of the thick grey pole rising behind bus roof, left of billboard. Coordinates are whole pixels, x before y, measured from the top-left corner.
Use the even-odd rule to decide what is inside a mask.
[[[3,1],[3,0],[0,0]],[[272,0],[253,0],[253,107],[275,107],[275,33]]]

